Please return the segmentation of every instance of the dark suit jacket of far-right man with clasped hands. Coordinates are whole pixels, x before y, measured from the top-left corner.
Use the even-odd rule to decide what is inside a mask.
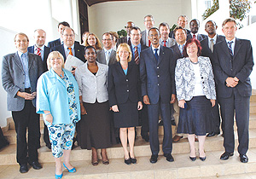
[[[226,78],[239,79],[236,90],[241,96],[252,95],[250,74],[253,70],[253,49],[249,40],[236,38],[234,55],[230,51],[226,41],[214,45],[213,69],[217,81],[218,97],[230,97],[234,88],[226,86]]]

